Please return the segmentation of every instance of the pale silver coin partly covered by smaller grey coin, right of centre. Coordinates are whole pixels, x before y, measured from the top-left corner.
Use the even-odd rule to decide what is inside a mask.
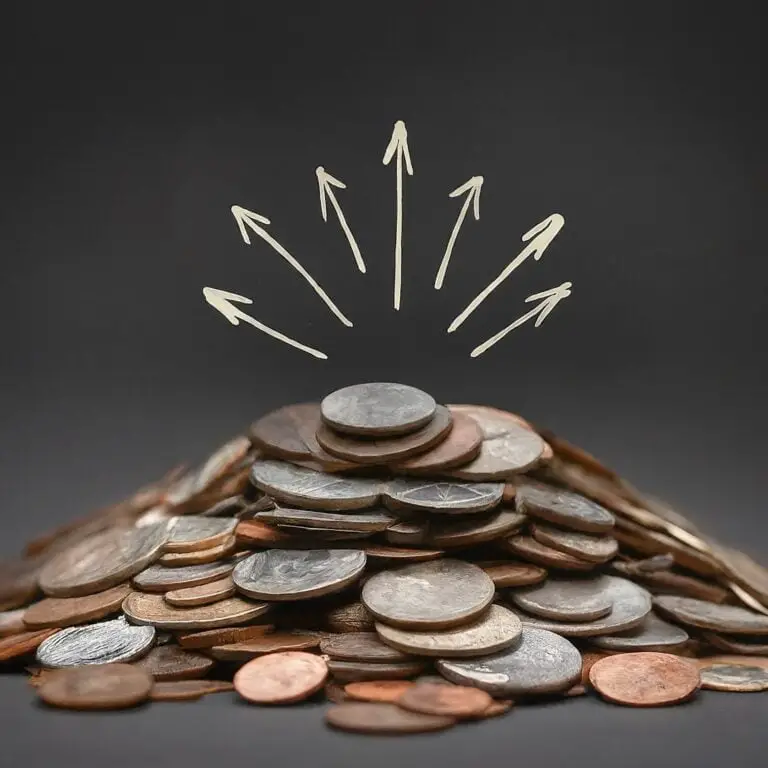
[[[613,602],[607,616],[594,621],[565,622],[518,611],[523,626],[547,629],[565,637],[596,637],[633,629],[650,613],[651,595],[637,584],[618,576],[599,576],[594,581],[596,591],[607,594]]]

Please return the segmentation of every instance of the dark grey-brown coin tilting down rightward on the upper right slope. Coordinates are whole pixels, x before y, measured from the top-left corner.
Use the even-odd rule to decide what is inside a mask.
[[[540,484],[518,487],[515,504],[518,512],[586,533],[606,533],[615,522],[614,516],[596,502]]]

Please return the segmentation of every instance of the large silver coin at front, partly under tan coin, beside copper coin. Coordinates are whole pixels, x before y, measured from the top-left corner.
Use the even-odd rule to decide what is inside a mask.
[[[478,659],[440,659],[437,670],[493,696],[557,693],[581,679],[581,654],[554,632],[524,627],[515,648]]]

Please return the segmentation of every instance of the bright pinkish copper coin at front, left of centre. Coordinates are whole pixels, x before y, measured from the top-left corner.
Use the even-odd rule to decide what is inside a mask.
[[[327,677],[328,667],[320,657],[286,651],[252,659],[240,667],[233,682],[254,704],[291,704],[319,691]]]

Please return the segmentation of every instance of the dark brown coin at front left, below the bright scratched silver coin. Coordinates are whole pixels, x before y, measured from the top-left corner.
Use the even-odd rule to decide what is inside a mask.
[[[63,709],[124,709],[149,698],[152,677],[129,664],[67,669],[51,675],[37,689],[52,707]]]

